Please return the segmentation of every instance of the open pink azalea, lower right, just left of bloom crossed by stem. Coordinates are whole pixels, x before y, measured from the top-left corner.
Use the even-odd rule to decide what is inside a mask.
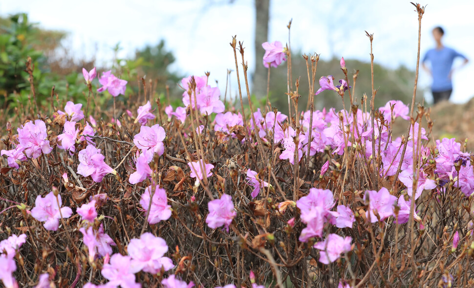
[[[384,221],[388,217],[393,216],[393,205],[397,202],[397,197],[390,195],[387,188],[382,187],[378,192],[367,190],[364,194],[364,201],[367,200],[369,207],[368,211],[366,211],[366,218],[368,219],[370,217],[371,223],[379,221],[375,212],[378,213],[380,221]]]

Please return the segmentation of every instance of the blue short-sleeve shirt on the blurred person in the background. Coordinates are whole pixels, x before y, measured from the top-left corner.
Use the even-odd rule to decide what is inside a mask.
[[[449,47],[443,47],[441,49],[433,48],[428,50],[425,54],[422,62],[424,63],[426,60],[430,60],[431,62],[431,74],[433,76],[431,90],[433,92],[452,90],[452,81],[449,74],[452,68],[452,62],[456,57],[466,59],[464,55]]]

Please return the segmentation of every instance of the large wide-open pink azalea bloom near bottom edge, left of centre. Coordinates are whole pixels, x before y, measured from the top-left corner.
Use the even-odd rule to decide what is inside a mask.
[[[131,271],[136,273],[143,270],[156,274],[163,268],[168,271],[174,267],[173,261],[164,257],[168,252],[168,245],[163,238],[146,232],[140,239],[131,239],[127,248],[131,257]]]

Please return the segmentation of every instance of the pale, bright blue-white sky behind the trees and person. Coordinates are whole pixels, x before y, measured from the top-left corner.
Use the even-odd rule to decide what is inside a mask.
[[[469,64],[453,74],[452,102],[464,103],[473,96],[466,89],[474,78],[474,1],[426,0],[422,19],[421,58],[434,47],[431,30],[445,30],[444,44],[464,54]],[[294,51],[369,61],[370,43],[365,31],[374,34],[374,62],[414,70],[417,56],[418,19],[409,1],[371,0],[271,0],[269,41],[288,41],[286,25],[292,19],[291,47]],[[26,12],[32,22],[46,29],[68,32],[66,45],[78,58],[95,56],[97,64],[108,65],[112,47],[120,42],[119,57],[132,57],[136,49],[165,39],[176,57],[172,69],[187,75],[218,80],[225,89],[227,69],[235,70],[229,42],[232,36],[244,42],[249,70],[261,65],[255,59],[254,0],[2,0],[0,16]],[[454,62],[454,68],[462,63]],[[357,67],[348,67],[357,69]],[[281,68],[284,69],[284,68]],[[318,72],[323,76],[324,72]],[[235,73],[233,74],[234,78]],[[237,80],[233,80],[237,83]],[[420,69],[419,85],[430,87],[431,77]],[[232,84],[233,87],[237,87]],[[380,87],[383,89],[383,87]],[[431,93],[426,93],[431,101]]]

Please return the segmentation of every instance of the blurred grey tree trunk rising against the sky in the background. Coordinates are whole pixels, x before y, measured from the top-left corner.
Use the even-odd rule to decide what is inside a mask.
[[[262,43],[268,41],[270,0],[255,0],[255,71],[252,76],[252,94],[261,99],[267,94],[267,68],[262,58],[265,50]]]

